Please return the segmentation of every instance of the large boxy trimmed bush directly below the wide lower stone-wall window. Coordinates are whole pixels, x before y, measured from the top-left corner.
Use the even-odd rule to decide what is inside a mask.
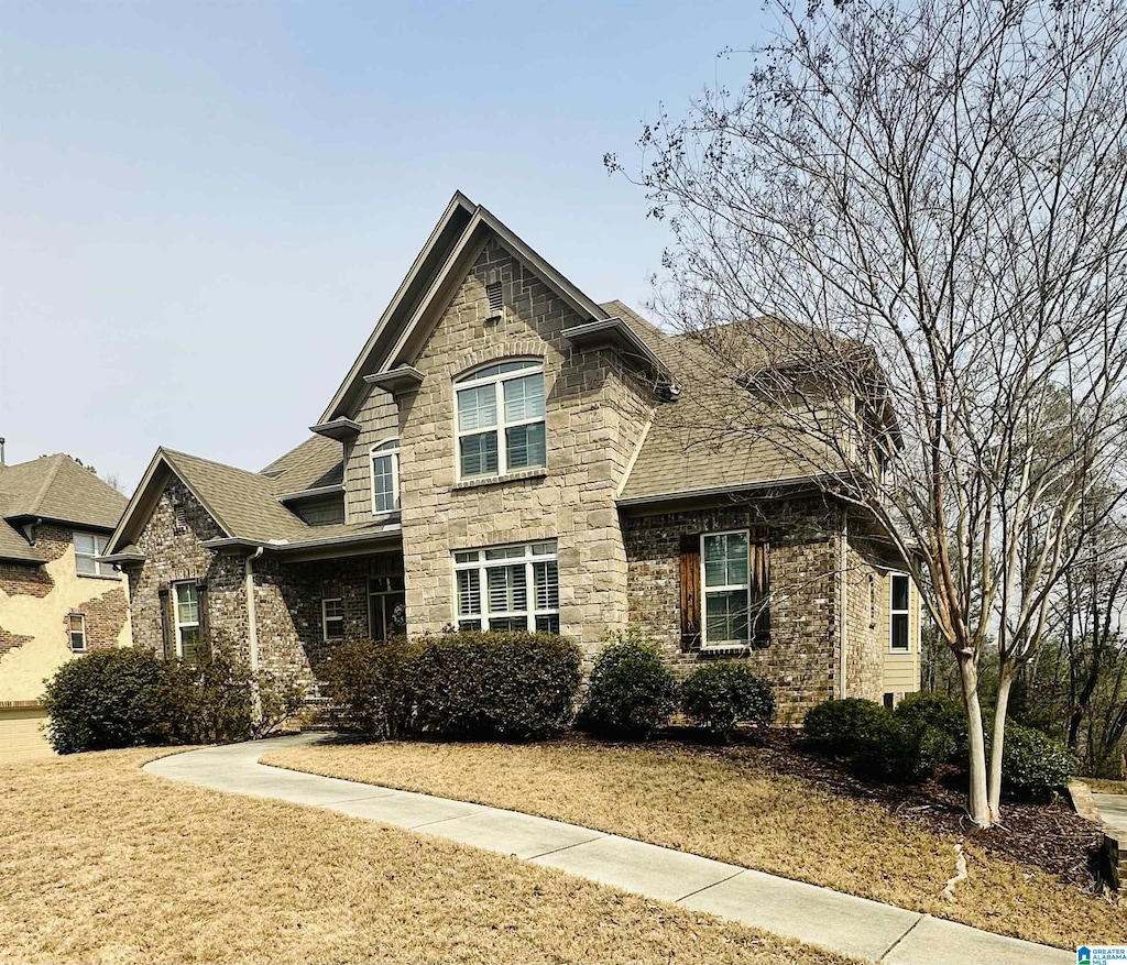
[[[416,641],[408,679],[415,724],[455,738],[560,734],[579,689],[579,648],[552,634],[461,630]]]

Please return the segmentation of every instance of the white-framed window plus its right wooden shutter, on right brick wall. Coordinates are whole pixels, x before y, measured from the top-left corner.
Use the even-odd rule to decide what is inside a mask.
[[[771,636],[767,547],[747,530],[701,535],[701,647],[766,646]]]

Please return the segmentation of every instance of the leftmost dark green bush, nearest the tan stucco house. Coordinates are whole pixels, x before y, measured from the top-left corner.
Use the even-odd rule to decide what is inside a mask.
[[[145,650],[98,650],[47,683],[47,740],[60,754],[174,740],[168,664]]]

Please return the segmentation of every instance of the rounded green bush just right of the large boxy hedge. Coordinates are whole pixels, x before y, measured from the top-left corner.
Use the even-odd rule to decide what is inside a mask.
[[[645,740],[677,707],[677,683],[660,653],[637,634],[619,635],[598,655],[584,702],[583,726]]]

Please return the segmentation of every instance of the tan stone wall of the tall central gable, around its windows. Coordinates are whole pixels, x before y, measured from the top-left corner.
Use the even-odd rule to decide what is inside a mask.
[[[505,309],[489,321],[486,284]],[[562,330],[586,319],[497,242],[488,242],[414,363],[399,397],[400,479],[412,631],[454,620],[452,552],[558,539],[560,629],[594,648],[627,622],[627,557],[614,496],[651,414],[651,390],[609,349],[579,352]],[[487,362],[544,360],[548,469],[456,482],[454,379]]]

